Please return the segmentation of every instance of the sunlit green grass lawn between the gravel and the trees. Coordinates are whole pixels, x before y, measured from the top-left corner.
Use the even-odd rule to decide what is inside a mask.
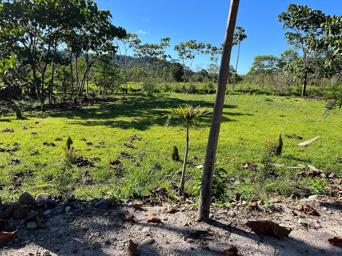
[[[0,147],[5,149],[2,151],[19,148],[13,153],[0,153],[3,201],[17,199],[23,191],[30,191],[32,195],[47,192],[84,199],[103,196],[139,199],[149,195],[149,189],[156,186],[166,187],[172,196],[172,183],[180,181],[186,123],[175,118],[165,128],[166,119],[161,118],[162,113],[177,105],[212,106],[215,95],[161,93],[148,97],[137,93],[99,97],[102,98],[90,99],[87,104],[68,104],[64,109],[47,108],[45,113],[23,111],[23,119],[16,119],[15,112],[1,116],[0,130],[14,130],[0,133],[0,143],[3,143]],[[314,99],[227,95],[216,166],[227,171],[229,189],[220,200],[232,198],[236,192],[244,198],[289,196],[302,192],[287,182],[300,171],[298,169],[276,168],[280,178],[269,176],[260,185],[255,180],[258,169],[242,168],[244,162],[260,162],[265,141],[276,138],[279,132],[284,146],[281,156],[272,159],[274,163],[313,165],[327,173],[341,175],[342,163],[338,161],[342,157],[341,113],[337,111],[324,118],[319,113],[320,103]],[[193,187],[200,172],[195,166],[204,162],[210,122],[206,117],[190,125],[185,184],[190,194],[195,193]],[[129,142],[135,134],[142,139]],[[297,134],[303,140],[289,139],[285,134]],[[74,141],[71,156],[66,156],[64,149],[68,136]],[[321,138],[306,147],[297,145],[316,136]],[[63,140],[55,141],[56,138]],[[81,141],[82,138],[86,141]],[[56,147],[43,145],[43,142],[53,142]],[[89,142],[92,145],[86,145]],[[132,144],[134,148],[126,147],[124,143]],[[172,145],[178,147],[181,159],[178,162],[171,160]],[[31,155],[36,151],[39,155]],[[132,156],[122,158],[121,152]],[[89,160],[89,167],[79,168],[75,158],[80,156],[100,160]],[[227,160],[233,157],[234,161]],[[20,162],[14,163],[14,158]],[[113,159],[119,159],[122,165],[110,165],[109,161]],[[24,173],[15,177],[18,172]],[[303,177],[295,178],[293,182],[307,187],[314,181]],[[316,187],[326,185],[318,182]]]

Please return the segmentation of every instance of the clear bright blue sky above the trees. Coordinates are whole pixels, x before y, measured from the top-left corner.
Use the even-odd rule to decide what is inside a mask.
[[[95,0],[96,1],[96,0]],[[138,34],[142,43],[160,43],[160,38],[170,37],[168,54],[177,59],[174,45],[188,40],[219,46],[223,43],[230,1],[113,1],[97,0],[101,10],[110,10],[112,23],[130,33]],[[306,4],[327,15],[342,15],[341,0],[240,0],[236,26],[242,26],[247,34],[240,46],[237,71],[246,74],[257,55],[279,56],[287,48],[285,31],[278,24],[277,16],[286,11],[290,3]],[[235,67],[238,47],[234,46],[231,65]],[[209,55],[196,56],[195,64],[210,64]]]

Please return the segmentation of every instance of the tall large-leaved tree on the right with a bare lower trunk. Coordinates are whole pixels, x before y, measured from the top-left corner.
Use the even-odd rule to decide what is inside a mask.
[[[289,30],[285,33],[287,44],[303,52],[302,61],[295,61],[289,67],[297,77],[303,79],[302,97],[304,97],[308,76],[314,73],[312,70],[316,66],[316,58],[323,52],[323,49],[312,50],[311,45],[315,44],[323,34],[321,24],[325,22],[325,14],[306,5],[291,3],[287,11],[278,16],[278,22],[284,22],[283,30]]]

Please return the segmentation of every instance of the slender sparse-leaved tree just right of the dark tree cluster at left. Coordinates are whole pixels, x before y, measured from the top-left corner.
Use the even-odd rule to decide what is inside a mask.
[[[122,64],[123,64],[125,83],[126,83],[126,93],[127,93],[127,72],[132,62],[135,59],[135,57],[133,56],[133,58],[130,58],[130,60],[127,60],[127,57],[128,57],[127,51],[133,48],[134,46],[136,47],[137,45],[139,45],[141,43],[141,40],[138,39],[137,34],[127,33],[126,37],[124,38],[121,38],[121,39],[115,38],[114,42],[119,52],[119,56],[117,58],[121,59]]]

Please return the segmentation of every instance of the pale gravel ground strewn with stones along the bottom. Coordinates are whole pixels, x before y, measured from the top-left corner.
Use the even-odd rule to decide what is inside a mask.
[[[100,209],[91,207],[91,202],[77,200],[71,203],[67,213],[60,204],[52,209],[51,214],[44,216],[45,229],[30,229],[23,219],[10,219],[10,228],[19,231],[1,245],[0,256],[127,255],[130,239],[139,244],[137,251],[144,256],[218,256],[221,254],[203,247],[222,252],[233,245],[238,248],[238,255],[248,256],[342,255],[342,248],[328,242],[329,238],[342,238],[341,202],[328,202],[317,196],[313,199],[297,202],[288,199],[286,205],[277,205],[274,201],[268,207],[260,207],[258,212],[246,211],[243,203],[227,209],[214,208],[211,209],[210,223],[194,222],[197,212],[182,209],[182,205],[175,205],[179,211],[169,214],[163,212],[167,205],[134,209],[117,204]],[[295,210],[294,206],[301,202],[310,204],[318,214]],[[140,221],[122,221],[118,212],[133,214]],[[146,218],[152,215],[161,218],[161,223],[147,223]],[[272,220],[292,228],[292,231],[289,238],[257,236],[245,225],[251,220]],[[190,236],[199,230],[201,236]],[[143,245],[143,240],[151,244]]]

